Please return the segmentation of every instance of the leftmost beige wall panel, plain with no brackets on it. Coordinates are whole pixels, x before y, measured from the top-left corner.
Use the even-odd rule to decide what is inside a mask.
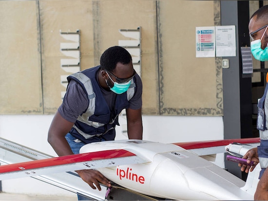
[[[0,2],[0,113],[42,114],[35,1]]]

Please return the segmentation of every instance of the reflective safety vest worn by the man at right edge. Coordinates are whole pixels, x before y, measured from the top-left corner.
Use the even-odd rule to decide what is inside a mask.
[[[260,130],[261,143],[258,146],[258,156],[262,168],[259,178],[263,175],[268,167],[268,84],[266,84],[263,97],[258,102],[257,128]],[[267,115],[266,115],[267,114]]]

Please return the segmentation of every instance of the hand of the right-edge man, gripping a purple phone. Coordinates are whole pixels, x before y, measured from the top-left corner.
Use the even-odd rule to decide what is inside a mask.
[[[243,159],[247,159],[247,163],[254,161],[254,165],[250,166],[238,163],[238,166],[241,167],[241,171],[245,171],[246,173],[249,173],[249,171],[252,172],[256,165],[259,163],[257,147],[249,149],[249,151],[243,156]]]

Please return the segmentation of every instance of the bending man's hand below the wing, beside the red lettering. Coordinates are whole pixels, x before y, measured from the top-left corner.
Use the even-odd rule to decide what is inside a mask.
[[[101,187],[99,183],[111,187],[111,182],[97,170],[77,170],[76,172],[82,178],[82,180],[88,183],[93,189],[96,189],[97,187],[97,189],[100,191]]]

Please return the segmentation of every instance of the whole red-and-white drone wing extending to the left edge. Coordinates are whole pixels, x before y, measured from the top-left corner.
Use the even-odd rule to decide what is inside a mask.
[[[123,149],[97,151],[1,165],[0,180],[143,162],[146,161]]]

